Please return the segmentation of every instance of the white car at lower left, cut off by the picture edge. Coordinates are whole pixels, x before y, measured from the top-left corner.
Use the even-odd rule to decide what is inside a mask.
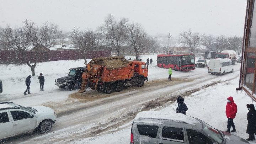
[[[44,106],[24,107],[13,102],[0,102],[0,139],[32,132],[49,132],[57,115]]]

